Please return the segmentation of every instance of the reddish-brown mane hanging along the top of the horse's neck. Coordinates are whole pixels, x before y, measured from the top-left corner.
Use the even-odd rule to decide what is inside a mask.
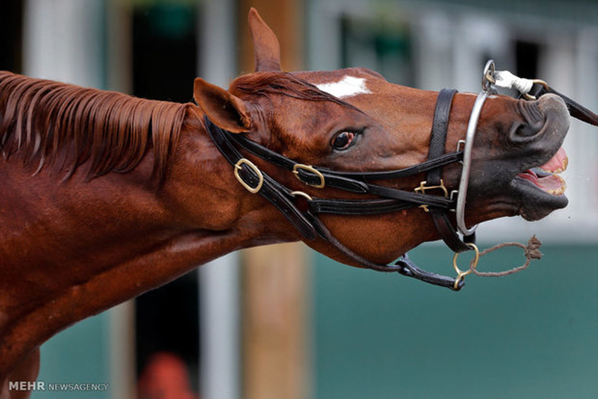
[[[36,173],[66,170],[65,179],[87,162],[90,180],[133,170],[153,148],[161,181],[188,106],[0,72],[0,151],[22,152]]]

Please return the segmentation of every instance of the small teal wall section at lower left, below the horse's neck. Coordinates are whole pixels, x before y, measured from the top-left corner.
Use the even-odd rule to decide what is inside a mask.
[[[109,314],[103,312],[52,337],[41,346],[38,381],[110,383]],[[34,391],[32,399],[108,399],[107,391]]]

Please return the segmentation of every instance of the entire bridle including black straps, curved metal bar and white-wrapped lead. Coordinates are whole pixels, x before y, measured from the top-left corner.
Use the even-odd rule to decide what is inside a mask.
[[[532,87],[535,84],[544,87],[546,92],[556,93],[548,88],[548,85],[542,81],[529,81],[529,79],[517,78],[517,76],[514,75],[512,76],[516,79],[507,81],[507,79],[502,77],[506,76],[506,74],[501,75],[501,72],[495,71],[492,60],[486,64],[483,76],[482,91],[478,94],[478,97],[475,100],[469,118],[466,139],[459,141],[455,151],[448,153],[444,152],[450,109],[453,97],[457,91],[443,89],[438,94],[436,102],[428,159],[419,164],[398,170],[373,172],[336,171],[325,167],[301,164],[300,162],[296,162],[277,152],[271,151],[258,143],[252,142],[241,134],[234,134],[222,130],[213,124],[207,116],[205,116],[204,122],[213,143],[215,143],[224,158],[233,165],[233,173],[239,183],[249,192],[259,194],[270,201],[271,204],[273,204],[274,207],[276,207],[303,235],[303,237],[308,240],[315,240],[318,237],[322,238],[333,247],[337,248],[340,253],[365,268],[381,272],[398,272],[399,274],[417,278],[426,283],[448,287],[451,290],[458,291],[463,287],[463,278],[471,272],[471,268],[466,271],[461,271],[456,264],[457,254],[467,250],[474,250],[475,263],[477,263],[479,257],[478,248],[474,244],[475,226],[468,229],[465,225],[465,198],[467,194],[469,173],[471,170],[472,145],[475,131],[477,130],[477,122],[484,102],[489,94],[495,92],[495,85],[499,87],[508,87],[507,85],[509,84],[509,87],[522,89],[523,91],[520,90],[520,93],[529,96],[529,99],[535,99],[535,97],[532,97],[532,95],[529,94],[529,91],[532,90]],[[532,84],[529,85],[529,88],[527,88],[527,86],[523,87],[522,85],[527,84],[527,82],[523,81],[529,81],[532,82]],[[526,88],[527,91],[524,92]],[[536,95],[539,96],[541,94]],[[579,106],[570,99],[567,100],[569,100],[569,106],[573,103],[579,107],[578,109],[581,109],[583,112],[588,112],[590,117],[596,118],[596,115],[591,111]],[[264,171],[261,171],[253,162],[245,158],[238,148],[251,152],[251,154],[258,156],[277,167],[291,171],[298,180],[313,188],[336,188],[358,194],[373,194],[380,198],[318,198],[308,195],[303,191],[292,191],[285,185],[274,180]],[[452,164],[454,162],[462,162],[463,168],[459,188],[456,191],[449,193],[441,179],[441,168],[444,165]],[[405,191],[371,183],[379,180],[400,179],[402,177],[414,176],[420,173],[426,173],[426,180],[422,181],[413,191]],[[440,192],[442,195],[428,194],[428,191],[431,190]],[[411,262],[406,253],[392,265],[371,262],[359,254],[356,254],[337,240],[318,217],[318,215],[322,213],[341,215],[381,214],[396,212],[412,207],[422,207],[424,211],[431,214],[435,228],[440,234],[440,237],[443,239],[444,243],[455,252],[453,266],[457,272],[456,278],[420,269]],[[459,232],[450,222],[449,213],[451,211],[455,211],[456,213],[457,228],[462,234],[462,237],[460,237]],[[475,268],[475,265],[472,267]]]

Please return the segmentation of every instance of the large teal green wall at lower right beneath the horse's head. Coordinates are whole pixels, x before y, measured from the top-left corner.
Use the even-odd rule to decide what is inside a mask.
[[[541,251],[520,274],[467,277],[460,292],[314,254],[313,397],[597,398],[598,246]],[[410,256],[453,272],[447,248]],[[507,250],[479,269],[521,263]]]

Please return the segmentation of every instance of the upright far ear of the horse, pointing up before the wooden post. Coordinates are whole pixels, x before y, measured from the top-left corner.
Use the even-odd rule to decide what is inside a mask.
[[[280,44],[272,29],[261,19],[260,14],[249,10],[249,30],[254,39],[255,72],[264,70],[280,70]]]

